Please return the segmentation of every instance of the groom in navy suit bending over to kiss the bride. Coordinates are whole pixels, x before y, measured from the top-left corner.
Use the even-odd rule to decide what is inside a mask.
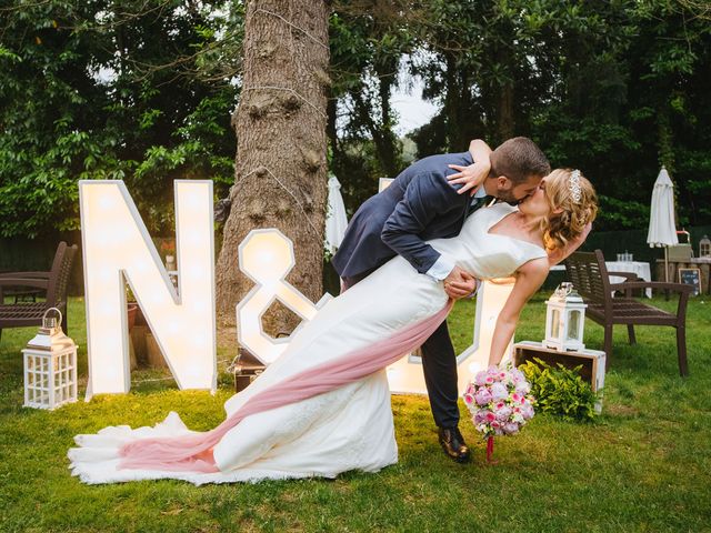
[[[421,274],[443,281],[449,296],[457,300],[471,294],[475,279],[424,241],[455,237],[464,219],[489,200],[515,203],[534,192],[550,172],[548,159],[533,141],[517,137],[491,153],[489,175],[473,197],[458,194],[461,185],[448,181],[447,177],[454,172],[448,164],[472,163],[470,152],[421,159],[402,171],[388,189],[367,200],[351,219],[333,257],[343,289],[399,254]],[[457,356],[447,321],[422,344],[422,366],[439,442],[447,455],[465,462],[470,452],[458,428]]]

